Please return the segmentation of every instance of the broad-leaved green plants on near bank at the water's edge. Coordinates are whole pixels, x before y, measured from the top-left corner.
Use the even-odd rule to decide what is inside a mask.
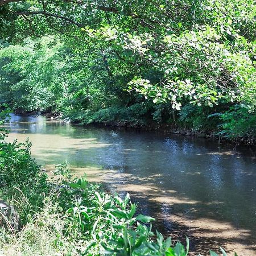
[[[171,238],[165,240],[159,232],[156,241],[152,239],[155,234],[150,222],[155,219],[142,214],[134,217],[136,207],[130,203],[129,194],[125,199],[110,196],[83,178],[69,183],[69,187],[77,200],[65,213],[67,232],[70,237],[82,239],[85,255],[98,255],[96,249],[100,255],[187,255],[180,242],[172,249]]]

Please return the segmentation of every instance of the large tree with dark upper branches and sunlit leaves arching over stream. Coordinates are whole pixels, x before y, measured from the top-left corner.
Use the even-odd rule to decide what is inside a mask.
[[[68,82],[71,97],[63,102],[71,109],[87,109],[97,102],[97,88],[104,88],[108,99],[122,99],[126,106],[141,102],[140,93],[170,105],[170,112],[187,104],[213,113],[223,105],[254,112],[252,0],[1,1],[0,6],[3,42],[54,35],[77,59],[87,60],[80,61],[84,82]],[[113,104],[100,102],[94,105]]]

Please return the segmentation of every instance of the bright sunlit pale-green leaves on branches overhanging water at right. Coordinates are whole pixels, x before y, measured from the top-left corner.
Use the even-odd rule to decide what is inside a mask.
[[[228,19],[228,24],[232,20]],[[151,97],[154,103],[172,102],[172,108],[180,110],[182,102],[213,108],[218,101],[238,102],[254,109],[256,104],[255,68],[245,51],[252,45],[238,36],[236,48],[222,40],[221,31],[207,26],[197,31],[186,31],[179,36],[163,38],[161,55],[147,55],[152,65],[162,69],[162,82],[151,84],[145,79],[134,79],[129,89]],[[242,47],[242,48],[241,48]],[[142,76],[143,77],[143,76]],[[250,100],[253,99],[253,100]],[[252,111],[250,109],[250,111]]]

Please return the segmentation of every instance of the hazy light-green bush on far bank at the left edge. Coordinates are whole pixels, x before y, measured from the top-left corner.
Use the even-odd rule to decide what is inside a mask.
[[[24,43],[27,47],[9,46],[0,51],[0,100],[18,112],[49,109],[55,97],[63,93],[61,77],[57,76],[64,65],[62,54],[57,52],[61,44],[51,49],[52,40],[47,38],[36,50],[36,42]]]

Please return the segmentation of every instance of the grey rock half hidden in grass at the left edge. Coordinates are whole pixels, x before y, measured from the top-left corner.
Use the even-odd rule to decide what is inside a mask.
[[[18,230],[19,228],[19,214],[16,213],[13,206],[2,200],[0,200],[0,226],[12,230]]]

